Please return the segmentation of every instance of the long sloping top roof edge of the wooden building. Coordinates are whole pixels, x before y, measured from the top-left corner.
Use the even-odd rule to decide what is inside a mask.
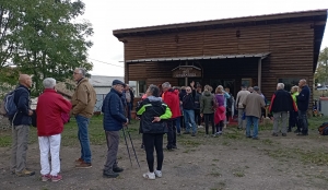
[[[175,24],[163,24],[163,25],[153,25],[144,27],[132,27],[132,28],[120,28],[114,29],[113,35],[117,38],[131,36],[131,35],[145,35],[145,34],[162,34],[167,32],[178,32],[179,29],[204,29],[207,27],[212,28],[213,26],[236,26],[238,23],[244,24],[259,24],[267,23],[269,21],[277,20],[301,20],[304,17],[314,17],[320,16],[321,21],[327,20],[327,9],[320,10],[308,10],[308,11],[295,11],[295,12],[284,12],[284,13],[273,13],[273,14],[262,14],[262,15],[249,15],[242,17],[227,17],[219,20],[209,20],[209,21],[197,21],[197,22],[186,22],[186,23],[175,23]]]

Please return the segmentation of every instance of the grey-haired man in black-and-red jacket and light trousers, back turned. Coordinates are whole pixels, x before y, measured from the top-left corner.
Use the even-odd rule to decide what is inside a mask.
[[[278,123],[281,122],[282,136],[286,136],[288,111],[295,108],[291,94],[284,91],[284,84],[278,83],[277,91],[271,98],[269,111],[273,112],[273,136],[278,136]]]

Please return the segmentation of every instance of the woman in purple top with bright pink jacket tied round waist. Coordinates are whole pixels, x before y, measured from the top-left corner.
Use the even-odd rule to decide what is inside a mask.
[[[216,127],[216,135],[222,134],[222,129],[224,126],[224,120],[225,120],[225,95],[226,93],[223,91],[223,86],[218,86],[215,90],[215,99],[216,103],[216,110],[214,114],[214,124]]]

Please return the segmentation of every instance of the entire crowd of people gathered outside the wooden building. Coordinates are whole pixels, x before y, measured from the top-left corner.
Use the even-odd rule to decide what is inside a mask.
[[[92,152],[89,140],[89,123],[93,116],[96,103],[96,93],[85,78],[85,70],[77,68],[73,72],[77,87],[71,100],[65,99],[56,92],[56,80],[47,78],[43,81],[44,92],[38,97],[36,111],[30,108],[30,88],[32,78],[21,74],[20,85],[15,90],[14,104],[16,114],[10,118],[12,121],[12,154],[11,171],[16,176],[32,176],[35,171],[26,169],[26,151],[28,142],[28,129],[31,117],[36,115],[36,127],[40,152],[42,181],[59,181],[60,175],[60,142],[63,124],[69,116],[74,116],[78,123],[78,139],[81,145],[81,155],[75,159],[77,168],[92,167]],[[202,91],[203,90],[203,91]],[[272,135],[286,135],[293,127],[300,135],[307,135],[307,118],[311,91],[305,80],[301,80],[298,86],[293,86],[291,93],[284,91],[284,84],[278,83],[277,91],[272,95],[269,111],[273,112]],[[117,152],[119,146],[119,131],[131,121],[133,109],[133,93],[127,84],[114,80],[110,92],[106,95],[102,112],[104,115],[103,127],[107,142],[107,157],[103,168],[103,176],[116,178],[124,168],[118,166]],[[258,86],[242,86],[236,99],[230,94],[229,88],[219,85],[213,87],[200,84],[195,86],[173,87],[168,82],[150,85],[142,99],[136,107],[137,117],[140,119],[140,132],[142,133],[142,147],[145,151],[149,171],[143,174],[147,179],[162,177],[163,138],[167,134],[166,149],[177,149],[177,135],[197,135],[197,130],[204,122],[206,138],[209,138],[209,127],[212,127],[211,135],[220,136],[229,123],[229,118],[235,114],[238,116],[238,129],[246,129],[246,138],[258,140],[258,123],[262,117],[262,110],[267,106],[265,96]],[[290,116],[289,127],[286,126]],[[280,121],[281,120],[281,121]],[[253,126],[253,133],[251,128]],[[183,132],[184,131],[184,132]],[[154,168],[154,150],[156,152],[156,168]],[[49,158],[50,157],[50,158]]]

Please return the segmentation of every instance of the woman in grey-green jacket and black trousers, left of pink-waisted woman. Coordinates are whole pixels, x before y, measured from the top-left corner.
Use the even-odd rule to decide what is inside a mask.
[[[211,93],[212,87],[206,85],[203,87],[203,94],[200,97],[200,116],[204,118],[206,123],[206,138],[209,136],[209,122],[212,123],[212,135],[215,136],[215,126],[214,126],[214,95]]]

